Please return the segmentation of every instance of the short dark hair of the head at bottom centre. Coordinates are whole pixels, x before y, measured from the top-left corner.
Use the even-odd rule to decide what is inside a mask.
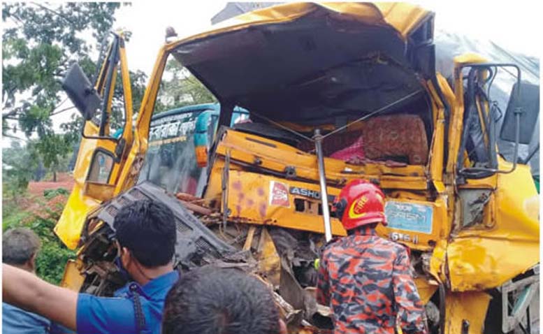
[[[198,268],[166,296],[162,334],[277,334],[279,312],[268,287],[233,268]]]

